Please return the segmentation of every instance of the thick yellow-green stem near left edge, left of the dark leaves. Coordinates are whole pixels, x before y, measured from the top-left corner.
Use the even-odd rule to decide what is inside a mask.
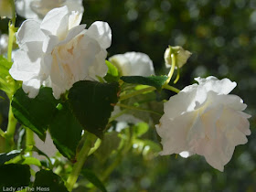
[[[5,133],[7,146],[9,146],[8,149],[13,149],[13,147],[15,145],[15,142],[14,142],[15,133],[16,133],[16,118],[13,114],[12,105],[10,102],[9,115],[8,115],[8,126],[7,126],[7,130]]]

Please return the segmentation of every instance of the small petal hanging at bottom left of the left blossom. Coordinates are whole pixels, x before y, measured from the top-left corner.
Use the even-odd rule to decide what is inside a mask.
[[[31,79],[23,81],[22,89],[28,93],[29,98],[35,98],[39,92],[41,81],[37,79]]]

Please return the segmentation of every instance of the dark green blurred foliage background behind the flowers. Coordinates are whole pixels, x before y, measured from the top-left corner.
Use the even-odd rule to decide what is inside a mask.
[[[256,191],[256,0],[86,0],[82,23],[109,23],[109,56],[127,51],[146,53],[157,75],[166,74],[168,45],[193,53],[181,69],[176,87],[194,78],[213,75],[236,81],[231,93],[248,104],[252,115],[248,144],[236,147],[223,173],[194,155],[151,156],[129,153],[115,168],[106,185],[110,191]],[[23,21],[18,17],[17,25]],[[1,33],[7,20],[0,21]],[[3,95],[3,93],[2,93]],[[0,99],[0,123],[5,127],[8,102]],[[1,121],[3,120],[3,121]],[[157,143],[154,127],[144,137]]]

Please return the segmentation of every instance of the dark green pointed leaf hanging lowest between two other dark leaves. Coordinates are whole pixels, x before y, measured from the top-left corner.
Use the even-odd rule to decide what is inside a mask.
[[[58,109],[54,121],[49,124],[49,133],[59,152],[74,159],[83,127],[69,110],[68,103],[59,104]]]

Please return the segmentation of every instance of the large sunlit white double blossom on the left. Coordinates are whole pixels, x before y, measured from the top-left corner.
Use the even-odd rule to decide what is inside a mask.
[[[70,14],[63,6],[48,12],[42,23],[27,20],[18,29],[20,49],[9,72],[15,80],[23,80],[23,90],[30,98],[37,96],[41,85],[52,87],[58,99],[79,80],[105,76],[111,28],[96,21],[84,29],[86,25],[80,25],[80,20],[81,14]]]

